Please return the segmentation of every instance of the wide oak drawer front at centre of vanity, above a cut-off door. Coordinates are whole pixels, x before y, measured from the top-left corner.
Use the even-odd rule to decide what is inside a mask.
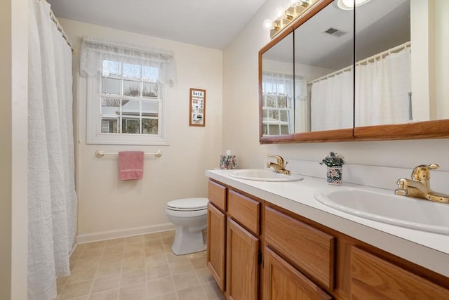
[[[265,242],[309,278],[334,287],[335,237],[270,207],[265,209]]]

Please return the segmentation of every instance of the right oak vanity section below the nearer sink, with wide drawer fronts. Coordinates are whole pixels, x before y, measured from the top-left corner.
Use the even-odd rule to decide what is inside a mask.
[[[269,202],[262,226],[265,300],[449,299],[445,276]]]

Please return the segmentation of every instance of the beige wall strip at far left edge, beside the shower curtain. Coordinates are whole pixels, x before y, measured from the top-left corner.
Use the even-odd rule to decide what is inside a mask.
[[[27,299],[28,2],[0,1],[0,299]]]

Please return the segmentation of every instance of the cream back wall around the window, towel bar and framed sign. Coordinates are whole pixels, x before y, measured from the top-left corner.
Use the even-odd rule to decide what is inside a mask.
[[[177,80],[166,88],[168,146],[86,144],[86,80],[78,74],[74,56],[76,101],[78,242],[173,228],[166,218],[170,200],[206,197],[204,170],[219,164],[222,131],[222,51],[142,34],[60,19],[79,49],[81,37],[98,37],[129,44],[163,48],[175,53]],[[206,89],[206,126],[189,126],[189,88]],[[95,157],[95,150],[162,150],[147,155],[142,181],[119,181],[116,155]]]

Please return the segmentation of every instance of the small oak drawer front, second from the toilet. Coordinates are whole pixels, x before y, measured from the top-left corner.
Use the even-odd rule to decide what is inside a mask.
[[[260,235],[260,203],[240,193],[229,190],[227,195],[228,215],[255,235]]]

